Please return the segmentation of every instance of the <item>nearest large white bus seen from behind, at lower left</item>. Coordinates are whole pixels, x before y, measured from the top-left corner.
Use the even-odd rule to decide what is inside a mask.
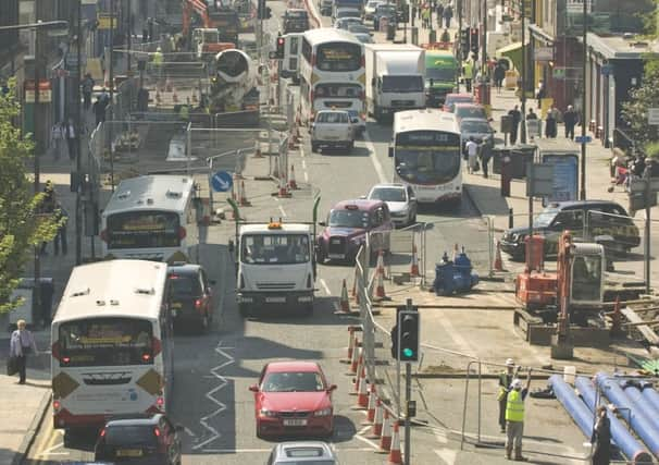
[[[110,260],[75,267],[51,323],[54,428],[163,413],[173,381],[167,266]]]

